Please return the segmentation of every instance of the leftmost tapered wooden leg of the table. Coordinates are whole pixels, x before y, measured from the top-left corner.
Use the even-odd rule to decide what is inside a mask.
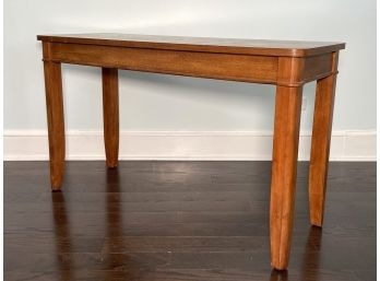
[[[64,119],[61,63],[44,61],[49,132],[50,182],[60,190],[64,172]]]

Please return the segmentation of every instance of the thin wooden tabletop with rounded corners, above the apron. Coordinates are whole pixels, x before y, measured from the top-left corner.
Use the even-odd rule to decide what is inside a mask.
[[[332,42],[237,39],[118,33],[38,35],[37,39],[100,46],[282,57],[316,56],[345,48],[344,43]]]

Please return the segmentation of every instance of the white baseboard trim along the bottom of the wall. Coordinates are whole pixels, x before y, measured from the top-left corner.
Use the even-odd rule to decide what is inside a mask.
[[[310,132],[301,132],[299,160],[309,160]],[[331,161],[376,161],[373,130],[333,131]],[[121,131],[120,160],[271,160],[269,131]],[[102,131],[68,131],[67,160],[104,160]],[[46,131],[4,131],[5,161],[48,160]]]

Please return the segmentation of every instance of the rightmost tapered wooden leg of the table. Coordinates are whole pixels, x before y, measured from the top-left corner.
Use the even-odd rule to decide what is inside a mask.
[[[310,222],[317,226],[323,223],[335,81],[332,74],[317,82],[309,171]]]

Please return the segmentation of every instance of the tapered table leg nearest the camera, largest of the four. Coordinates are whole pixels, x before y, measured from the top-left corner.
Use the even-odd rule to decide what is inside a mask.
[[[287,268],[289,258],[297,176],[301,95],[301,86],[277,86],[270,232],[272,267],[278,270]]]

